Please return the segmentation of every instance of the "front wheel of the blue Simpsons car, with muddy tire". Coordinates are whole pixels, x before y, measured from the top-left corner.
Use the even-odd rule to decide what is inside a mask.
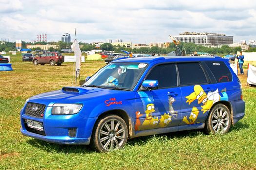
[[[127,138],[128,128],[125,121],[117,115],[108,115],[97,121],[90,146],[98,152],[109,152],[122,148]]]

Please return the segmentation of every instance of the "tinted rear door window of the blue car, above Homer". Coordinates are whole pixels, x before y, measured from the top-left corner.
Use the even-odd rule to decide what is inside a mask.
[[[208,83],[200,63],[178,63],[180,85]]]

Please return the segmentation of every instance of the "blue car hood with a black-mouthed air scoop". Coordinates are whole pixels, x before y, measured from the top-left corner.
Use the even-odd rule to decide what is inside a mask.
[[[96,99],[116,93],[120,90],[110,90],[94,87],[63,87],[62,90],[42,93],[29,98],[28,102],[52,106],[54,103],[83,103],[90,99]],[[126,91],[127,92],[127,91]]]

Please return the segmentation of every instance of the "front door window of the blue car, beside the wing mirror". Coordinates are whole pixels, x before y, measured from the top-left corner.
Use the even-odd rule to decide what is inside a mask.
[[[171,88],[177,86],[177,73],[175,64],[164,64],[154,67],[148,76],[147,80],[158,80],[159,87],[161,88]]]

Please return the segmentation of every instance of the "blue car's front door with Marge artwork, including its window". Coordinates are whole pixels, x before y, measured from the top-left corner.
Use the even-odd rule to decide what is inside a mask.
[[[135,131],[179,125],[181,90],[177,85],[175,64],[154,67],[146,80],[158,80],[159,87],[155,90],[141,87],[137,92]]]

